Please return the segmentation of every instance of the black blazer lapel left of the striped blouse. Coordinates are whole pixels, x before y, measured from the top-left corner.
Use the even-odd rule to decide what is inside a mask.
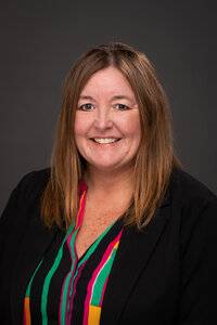
[[[34,218],[31,218],[29,222],[21,244],[21,253],[17,256],[14,265],[14,274],[12,277],[13,292],[11,296],[11,310],[14,324],[22,324],[23,299],[27,284],[46,249],[58,234],[56,230],[46,230],[38,213],[35,212]]]

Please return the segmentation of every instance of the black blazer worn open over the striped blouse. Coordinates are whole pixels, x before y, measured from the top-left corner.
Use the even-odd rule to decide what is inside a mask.
[[[50,169],[25,176],[0,220],[0,324],[22,324],[31,273],[59,232],[40,221]],[[217,324],[217,197],[175,169],[144,232],[126,227],[104,296],[101,324]]]

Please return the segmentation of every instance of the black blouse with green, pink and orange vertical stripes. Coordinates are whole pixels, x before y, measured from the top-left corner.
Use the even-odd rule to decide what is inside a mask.
[[[78,259],[75,240],[82,223],[87,194],[85,182],[79,184],[79,190],[76,223],[66,234],[56,234],[28,283],[24,325],[100,324],[103,297],[122,237],[123,222],[118,219],[110,225]]]

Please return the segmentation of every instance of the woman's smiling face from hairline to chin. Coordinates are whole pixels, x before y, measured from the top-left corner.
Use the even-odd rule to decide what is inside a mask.
[[[140,143],[139,108],[130,84],[115,67],[97,72],[80,93],[75,140],[89,167],[126,170]]]

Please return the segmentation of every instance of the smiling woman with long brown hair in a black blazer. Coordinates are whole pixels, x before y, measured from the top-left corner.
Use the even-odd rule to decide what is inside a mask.
[[[3,211],[1,324],[215,324],[216,227],[146,56],[93,48],[66,78],[51,168]]]

